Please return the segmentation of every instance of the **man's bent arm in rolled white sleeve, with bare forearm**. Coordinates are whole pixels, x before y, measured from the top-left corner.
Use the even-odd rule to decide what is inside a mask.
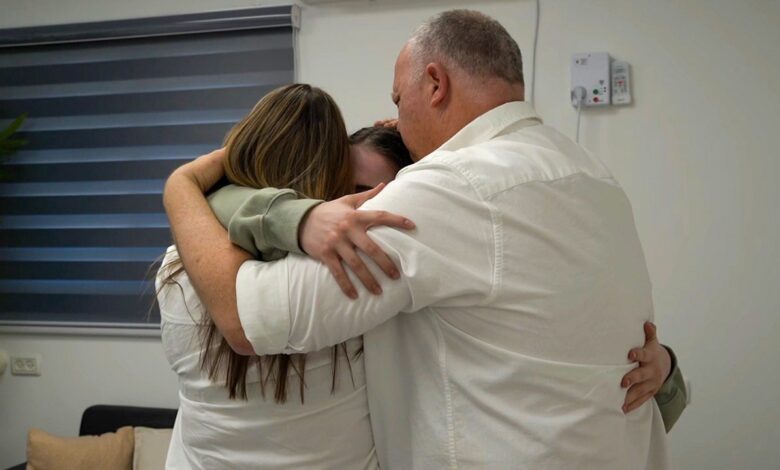
[[[234,257],[219,243],[217,237],[223,236],[224,232],[214,231],[212,227],[209,234],[192,223],[199,221],[197,225],[203,227],[203,219],[213,219],[205,201],[200,205],[185,206],[186,201],[197,199],[196,193],[197,188],[193,185],[170,184],[166,190],[166,201],[169,201],[166,207],[185,267],[217,325],[242,325],[242,330],[234,331],[252,339],[258,354],[320,349],[360,335],[401,310],[417,310],[440,299],[447,299],[448,305],[473,305],[484,300],[491,291],[492,244],[489,240],[492,240],[492,222],[489,209],[474,202],[473,188],[460,175],[439,170],[420,177],[419,181],[407,176],[404,184],[394,183],[371,201],[382,200],[373,204],[377,209],[398,207],[402,211],[408,210],[404,215],[409,219],[418,216],[428,219],[426,228],[418,230],[413,237],[407,232],[387,228],[372,232],[375,241],[401,268],[401,279],[383,282],[383,295],[360,295],[357,300],[350,301],[340,293],[339,284],[326,266],[301,256],[288,256],[273,263],[248,261],[242,266],[237,282],[238,305],[242,313],[242,321],[238,322],[235,285],[231,288],[229,284],[235,282],[233,273],[242,258]],[[317,209],[335,202],[322,204]],[[433,207],[451,210],[431,210]],[[177,216],[177,210],[184,213]],[[433,250],[431,247],[442,245],[438,227],[448,226],[453,218],[460,217],[474,221],[470,229],[456,242]],[[212,222],[217,223],[216,220]],[[184,238],[184,233],[195,231],[200,233],[190,233]],[[198,253],[210,256],[199,256]],[[374,275],[378,275],[378,268],[373,263],[370,266]],[[209,290],[218,288],[222,289],[219,295],[209,294]],[[362,285],[357,288],[362,294],[367,293]],[[308,303],[298,303],[300,300]],[[221,315],[229,318],[217,321],[216,317]],[[239,340],[243,342],[245,337],[235,338],[233,342]]]

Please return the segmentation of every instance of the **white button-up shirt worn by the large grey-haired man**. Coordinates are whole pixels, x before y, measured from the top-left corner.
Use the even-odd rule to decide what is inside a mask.
[[[236,287],[258,354],[365,333],[383,468],[668,466],[655,402],[621,411],[653,307],[631,206],[602,163],[512,102],[364,208],[417,225],[370,232],[401,271],[381,296],[349,300],[297,255],[247,261]]]

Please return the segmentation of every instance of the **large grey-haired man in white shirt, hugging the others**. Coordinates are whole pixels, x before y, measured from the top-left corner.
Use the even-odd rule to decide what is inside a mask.
[[[295,354],[363,334],[383,468],[668,468],[661,409],[673,422],[685,391],[648,323],[631,205],[523,101],[515,41],[479,12],[437,15],[398,55],[392,97],[416,163],[365,204],[308,211],[297,233],[310,257],[215,246],[225,232],[193,180],[219,167],[169,180],[204,302],[241,326],[224,331],[231,344]],[[370,211],[416,228],[367,235]]]

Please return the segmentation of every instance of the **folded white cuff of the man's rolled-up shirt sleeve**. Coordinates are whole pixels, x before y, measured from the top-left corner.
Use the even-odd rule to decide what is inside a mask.
[[[284,263],[278,271],[277,263]],[[266,271],[276,268],[273,275]],[[280,275],[281,274],[281,275]],[[255,354],[278,354],[290,337],[290,305],[287,284],[287,259],[274,263],[245,261],[236,277],[238,318],[244,335]]]

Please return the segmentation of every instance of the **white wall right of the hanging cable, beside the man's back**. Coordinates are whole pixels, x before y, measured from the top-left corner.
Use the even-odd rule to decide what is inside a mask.
[[[682,469],[780,462],[780,3],[544,1],[538,106],[573,129],[566,55],[633,66],[630,109],[588,113],[584,144],[622,182],[661,338],[693,381]]]

